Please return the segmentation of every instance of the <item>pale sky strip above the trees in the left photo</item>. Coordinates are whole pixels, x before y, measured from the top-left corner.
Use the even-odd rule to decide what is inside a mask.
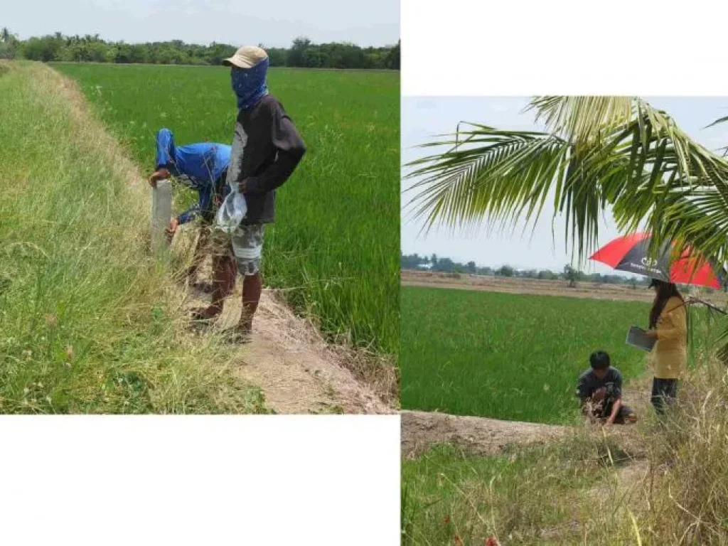
[[[180,39],[288,47],[314,43],[396,44],[397,0],[4,0],[0,25],[21,39],[59,31],[129,43]]]

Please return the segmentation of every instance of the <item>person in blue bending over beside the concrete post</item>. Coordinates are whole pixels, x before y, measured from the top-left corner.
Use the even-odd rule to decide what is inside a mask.
[[[192,266],[187,270],[190,282],[194,282],[202,248],[207,245],[210,228],[215,221],[215,212],[229,191],[226,183],[227,168],[230,163],[230,146],[226,144],[202,142],[175,146],[175,138],[169,129],[157,132],[157,163],[149,177],[152,187],[157,181],[173,176],[197,190],[197,204],[180,215],[175,216],[167,227],[167,237],[172,239],[183,223],[197,220],[202,224],[197,247],[194,250]]]

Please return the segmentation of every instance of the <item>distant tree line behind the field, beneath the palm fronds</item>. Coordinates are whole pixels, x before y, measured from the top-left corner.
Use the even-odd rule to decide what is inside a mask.
[[[636,286],[646,284],[649,279],[636,277],[623,277],[622,275],[605,275],[601,273],[586,274],[567,264],[561,272],[550,269],[515,269],[504,265],[498,268],[476,266],[474,261],[462,264],[450,258],[440,258],[437,254],[432,256],[419,256],[419,254],[401,254],[400,266],[402,269],[420,269],[443,273],[486,275],[489,277],[512,277],[517,279],[538,280],[568,280],[569,285],[577,282],[596,282],[610,285]]]

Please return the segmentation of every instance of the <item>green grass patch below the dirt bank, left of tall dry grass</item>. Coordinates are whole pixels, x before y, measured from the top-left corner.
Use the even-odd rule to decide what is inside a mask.
[[[443,445],[405,460],[403,545],[547,543],[542,531],[579,518],[589,488],[604,478],[599,454],[569,439],[491,457]]]

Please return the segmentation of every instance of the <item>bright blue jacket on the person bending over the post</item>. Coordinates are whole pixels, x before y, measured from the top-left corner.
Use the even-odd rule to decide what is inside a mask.
[[[179,223],[210,212],[213,194],[225,197],[229,186],[222,183],[222,178],[229,163],[230,146],[226,144],[201,142],[175,146],[172,131],[165,128],[157,132],[157,169],[164,167],[199,194],[197,205],[177,217]]]

